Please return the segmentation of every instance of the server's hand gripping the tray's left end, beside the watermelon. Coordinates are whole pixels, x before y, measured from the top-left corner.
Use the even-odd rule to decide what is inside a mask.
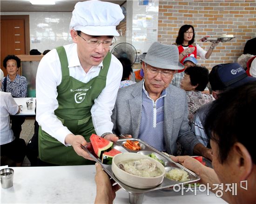
[[[74,151],[83,158],[94,161],[93,158],[81,147],[87,145],[85,138],[81,135],[68,134],[65,138],[65,143],[67,145],[72,145]]]

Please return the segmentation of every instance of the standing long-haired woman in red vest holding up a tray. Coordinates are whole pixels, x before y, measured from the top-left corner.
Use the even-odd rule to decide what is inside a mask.
[[[189,56],[195,57],[199,56],[202,59],[208,59],[219,44],[219,42],[214,42],[209,47],[208,51],[205,51],[198,44],[194,43],[195,40],[195,30],[191,25],[181,26],[178,37],[176,38],[175,45],[179,49],[179,61],[183,64],[183,60]]]

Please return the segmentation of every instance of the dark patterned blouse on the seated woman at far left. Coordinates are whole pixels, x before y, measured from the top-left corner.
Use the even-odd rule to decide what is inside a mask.
[[[1,91],[4,91],[4,77],[2,79]],[[15,79],[11,81],[9,75],[7,75],[6,92],[12,94],[12,97],[21,98],[27,97],[27,79],[26,77],[16,75]]]

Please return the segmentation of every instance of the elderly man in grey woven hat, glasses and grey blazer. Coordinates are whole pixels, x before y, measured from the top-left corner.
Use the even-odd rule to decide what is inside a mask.
[[[144,79],[118,91],[113,132],[139,138],[172,155],[178,141],[189,154],[211,157],[190,131],[186,92],[170,85],[173,74],[183,69],[177,46],[154,42],[141,60]]]

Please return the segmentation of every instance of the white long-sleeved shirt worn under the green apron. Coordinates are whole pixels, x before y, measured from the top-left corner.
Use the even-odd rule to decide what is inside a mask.
[[[86,73],[78,58],[77,45],[73,43],[64,46],[64,48],[67,53],[70,76],[87,83],[99,75],[102,62],[98,66],[92,66]],[[111,115],[121,78],[122,65],[112,55],[106,86],[94,100],[94,105],[91,108],[94,129],[99,136],[105,132],[112,132]],[[41,59],[36,74],[36,120],[43,131],[66,145],[65,138],[67,134],[72,132],[63,126],[61,121],[54,115],[54,110],[58,108],[57,86],[61,84],[61,79],[61,63],[56,49],[53,49]]]

